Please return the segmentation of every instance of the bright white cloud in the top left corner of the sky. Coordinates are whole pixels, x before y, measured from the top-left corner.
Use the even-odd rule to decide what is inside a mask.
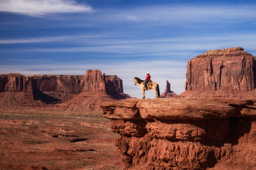
[[[1,0],[0,11],[44,16],[49,13],[91,12],[92,8],[74,0]]]

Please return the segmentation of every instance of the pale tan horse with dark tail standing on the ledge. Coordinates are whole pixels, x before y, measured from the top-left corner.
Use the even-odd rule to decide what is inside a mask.
[[[144,80],[139,79],[138,77],[134,77],[134,85],[139,84],[140,89],[142,89],[143,98],[145,98],[145,86],[144,86]],[[154,89],[154,92],[156,94],[156,98],[160,97],[160,91],[159,91],[159,84],[157,84],[154,81],[149,81],[147,84],[148,89]]]

